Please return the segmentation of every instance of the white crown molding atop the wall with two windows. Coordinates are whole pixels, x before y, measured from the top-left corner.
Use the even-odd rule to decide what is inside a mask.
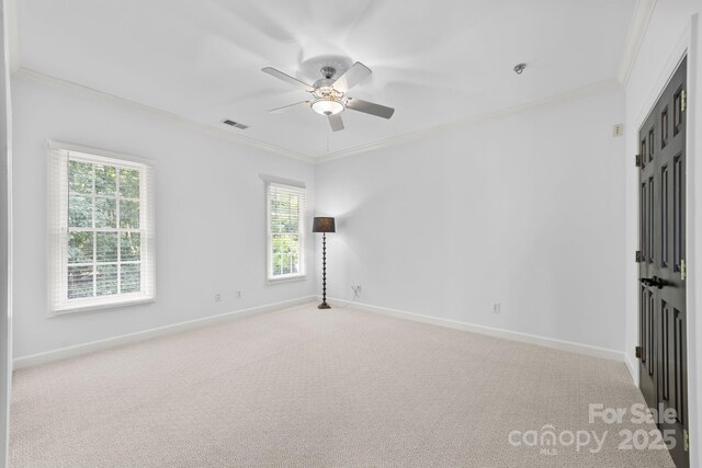
[[[150,105],[141,104],[136,101],[131,101],[128,99],[120,98],[114,94],[105,93],[103,91],[95,90],[93,88],[84,87],[82,84],[78,84],[73,81],[63,80],[60,78],[52,77],[49,75],[43,73],[41,71],[32,70],[29,68],[20,67],[16,71],[12,73],[12,78],[22,79],[33,82],[38,82],[41,84],[53,87],[53,88],[61,88],[65,90],[72,91],[77,94],[81,94],[91,99],[100,99],[103,102],[107,102],[110,104],[120,105],[122,107],[129,109],[132,111],[137,111],[140,113],[146,113],[149,115],[158,116],[162,119],[167,119],[171,123],[176,123],[193,130],[204,133],[210,136],[223,138],[229,141],[234,141],[240,145],[249,146],[252,148],[261,149],[268,152],[272,152],[279,156],[285,156],[288,158],[296,159],[298,161],[314,162],[314,158],[303,155],[301,152],[292,151],[275,145],[270,145],[253,138],[245,137],[241,135],[235,135],[230,132],[227,132],[223,128],[217,128],[212,125],[203,124],[201,122],[192,121],[190,118],[182,117],[180,115],[173,114],[171,112],[162,111],[157,107],[152,107]]]

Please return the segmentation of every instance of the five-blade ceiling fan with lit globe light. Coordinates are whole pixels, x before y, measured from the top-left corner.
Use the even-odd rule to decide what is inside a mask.
[[[393,107],[386,107],[384,105],[362,101],[360,99],[348,98],[346,95],[351,88],[359,84],[372,73],[371,69],[360,61],[353,64],[353,66],[339,78],[335,78],[335,75],[337,75],[336,68],[322,67],[319,71],[324,78],[315,81],[313,84],[299,81],[297,78],[285,75],[272,67],[265,67],[261,69],[261,71],[297,88],[302,88],[312,94],[310,99],[307,101],[273,109],[269,111],[271,114],[281,114],[283,112],[294,111],[308,105],[317,114],[327,116],[329,125],[331,125],[331,129],[333,132],[338,132],[343,129],[343,121],[341,119],[340,114],[347,109],[383,118],[390,118],[395,113]]]

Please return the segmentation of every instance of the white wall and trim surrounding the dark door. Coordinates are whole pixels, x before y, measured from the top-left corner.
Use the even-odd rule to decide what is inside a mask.
[[[658,1],[648,23],[646,34],[642,42],[632,73],[626,83],[626,158],[633,160],[633,155],[638,151],[638,128],[643,124],[650,107],[656,102],[659,93],[672,75],[678,61],[686,50],[697,54],[702,47],[699,38],[699,19],[692,21],[691,16],[702,10],[702,1]],[[692,31],[691,31],[692,28]],[[698,31],[697,35],[694,31]],[[701,347],[698,344],[702,339],[702,320],[698,320],[694,294],[702,290],[702,275],[697,273],[695,265],[702,264],[702,250],[697,247],[697,232],[702,230],[702,205],[699,194],[702,186],[702,164],[697,162],[700,151],[690,151],[690,144],[697,141],[697,126],[692,119],[702,107],[700,98],[699,57],[688,58],[688,398],[691,437],[691,465],[702,465],[700,448],[702,447],[702,434],[700,424],[702,421],[702,408],[699,404],[698,367],[702,363]],[[638,172],[633,163],[626,167],[626,251],[629,253],[638,249]],[[695,226],[697,222],[697,226]],[[695,254],[697,249],[697,254]],[[694,255],[694,260],[690,261]],[[631,255],[633,259],[633,253]],[[634,355],[634,347],[638,344],[638,267],[627,259],[626,267],[626,358],[630,366],[636,369],[634,377],[638,381],[638,362]]]

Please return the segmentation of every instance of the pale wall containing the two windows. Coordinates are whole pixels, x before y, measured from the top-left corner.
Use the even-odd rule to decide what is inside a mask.
[[[260,174],[303,181],[314,209],[314,168],[217,138],[64,84],[13,77],[14,355],[26,355],[299,298],[307,281],[265,282],[265,198]],[[155,162],[155,304],[47,317],[46,141],[132,153]],[[235,292],[242,298],[236,299]],[[214,294],[222,301],[214,301]]]

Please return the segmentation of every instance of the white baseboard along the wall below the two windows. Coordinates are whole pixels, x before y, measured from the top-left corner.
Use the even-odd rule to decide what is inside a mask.
[[[76,344],[67,347],[60,347],[58,350],[46,351],[44,353],[31,354],[29,356],[22,356],[22,357],[15,358],[12,362],[13,363],[12,367],[13,369],[21,369],[25,367],[37,366],[41,364],[47,364],[55,361],[65,359],[68,357],[79,356],[88,353],[94,353],[97,351],[109,350],[111,347],[122,346],[128,343],[136,343],[139,341],[149,340],[157,336],[180,333],[183,331],[194,330],[202,327],[213,326],[216,323],[238,320],[238,319],[250,317],[257,313],[274,312],[278,310],[286,309],[288,307],[307,304],[315,299],[316,299],[315,296],[301,297],[297,299],[291,299],[291,300],[284,300],[281,303],[267,304],[264,306],[251,307],[249,309],[241,309],[241,310],[235,310],[233,312],[219,313],[212,317],[204,317],[202,319],[189,320],[186,322],[173,323],[170,326],[138,331],[135,333],[106,338],[104,340],[91,341],[88,343]]]

